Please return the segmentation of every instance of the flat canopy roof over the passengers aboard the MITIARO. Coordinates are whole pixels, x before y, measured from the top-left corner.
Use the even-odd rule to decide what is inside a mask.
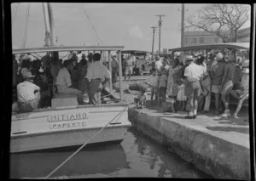
[[[13,49],[13,54],[43,53],[43,52],[68,52],[68,51],[121,51],[124,46],[77,46],[77,47],[43,47]]]

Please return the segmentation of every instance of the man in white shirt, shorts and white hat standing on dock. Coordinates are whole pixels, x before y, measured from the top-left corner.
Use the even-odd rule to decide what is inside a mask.
[[[184,62],[188,65],[185,68],[185,95],[188,98],[189,115],[185,116],[187,119],[195,119],[197,115],[198,98],[201,95],[200,80],[204,75],[203,69],[200,65],[196,65],[191,55],[185,57]]]

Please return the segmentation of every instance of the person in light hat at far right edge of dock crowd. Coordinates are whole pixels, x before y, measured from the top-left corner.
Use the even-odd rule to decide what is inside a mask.
[[[231,91],[231,94],[239,100],[236,111],[232,115],[236,119],[238,119],[237,115],[241,110],[242,103],[249,98],[249,60],[245,60],[242,64],[241,74],[241,87]]]

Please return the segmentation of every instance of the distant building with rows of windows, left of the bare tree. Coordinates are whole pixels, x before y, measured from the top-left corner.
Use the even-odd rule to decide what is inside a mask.
[[[207,31],[184,31],[184,47],[223,42],[220,37]]]

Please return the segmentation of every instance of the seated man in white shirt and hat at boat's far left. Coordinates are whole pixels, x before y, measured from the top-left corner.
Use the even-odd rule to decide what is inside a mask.
[[[17,86],[18,101],[13,105],[14,111],[30,112],[38,109],[40,101],[40,88],[33,84],[31,72],[26,72],[24,75],[25,81],[20,82]]]

